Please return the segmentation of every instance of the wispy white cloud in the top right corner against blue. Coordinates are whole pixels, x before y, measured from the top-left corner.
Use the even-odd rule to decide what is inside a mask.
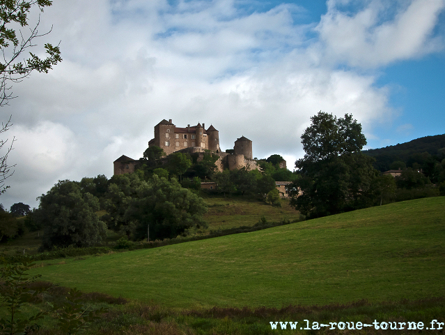
[[[352,14],[338,9],[352,2],[328,1],[328,12],[316,28],[327,57],[375,67],[442,49],[443,40],[431,34],[444,0],[364,1],[367,6]],[[391,10],[396,13],[387,20]]]

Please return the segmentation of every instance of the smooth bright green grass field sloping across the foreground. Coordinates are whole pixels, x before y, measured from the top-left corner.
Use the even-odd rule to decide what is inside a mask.
[[[32,273],[171,308],[445,296],[444,212],[445,197],[411,200],[258,232],[51,260]]]

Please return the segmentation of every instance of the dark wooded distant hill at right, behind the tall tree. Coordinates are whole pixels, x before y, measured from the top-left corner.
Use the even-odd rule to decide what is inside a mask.
[[[381,172],[390,170],[395,161],[411,167],[413,163],[425,165],[423,170],[428,174],[428,165],[435,165],[445,158],[445,134],[421,137],[405,143],[390,145],[380,149],[364,150],[364,154],[375,158],[375,168]]]

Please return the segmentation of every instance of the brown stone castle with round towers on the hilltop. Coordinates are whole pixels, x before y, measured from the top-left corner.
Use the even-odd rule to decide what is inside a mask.
[[[242,136],[235,141],[233,153],[221,152],[219,148],[219,131],[214,126],[206,130],[205,124],[187,125],[186,128],[176,127],[172,120],[162,120],[155,126],[155,138],[148,142],[148,147],[157,146],[164,149],[167,156],[173,152],[194,154],[198,153],[198,161],[203,159],[204,153],[211,151],[219,156],[215,165],[220,172],[225,168],[235,170],[247,168],[258,169],[253,159],[252,141]],[[114,161],[114,174],[131,173],[136,170],[139,161],[125,155]]]

